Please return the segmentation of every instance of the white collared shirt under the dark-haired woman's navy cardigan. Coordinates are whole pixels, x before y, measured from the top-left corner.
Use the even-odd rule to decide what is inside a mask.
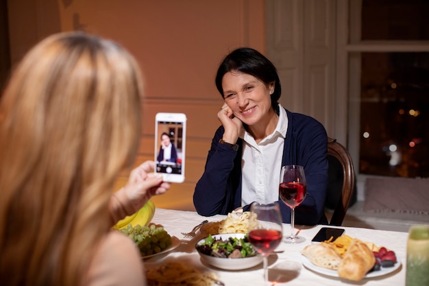
[[[278,200],[283,146],[288,128],[286,110],[280,104],[279,109],[280,114],[275,130],[259,144],[256,144],[254,137],[247,131],[240,136],[243,139],[242,206],[252,202],[268,204]]]

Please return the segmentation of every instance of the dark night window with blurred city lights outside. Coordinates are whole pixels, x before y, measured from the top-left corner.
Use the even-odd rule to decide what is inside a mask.
[[[425,0],[350,0],[359,174],[429,176],[428,12]]]

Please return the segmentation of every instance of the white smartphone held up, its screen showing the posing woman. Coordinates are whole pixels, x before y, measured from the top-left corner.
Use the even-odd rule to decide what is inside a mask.
[[[186,115],[160,112],[155,116],[155,173],[164,182],[184,182]]]

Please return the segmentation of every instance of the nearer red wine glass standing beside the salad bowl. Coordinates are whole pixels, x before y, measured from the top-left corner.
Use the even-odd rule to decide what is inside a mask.
[[[249,219],[249,242],[264,261],[264,278],[268,282],[268,261],[270,252],[278,247],[283,237],[282,216],[278,202],[259,204],[254,202],[250,206],[254,219]]]

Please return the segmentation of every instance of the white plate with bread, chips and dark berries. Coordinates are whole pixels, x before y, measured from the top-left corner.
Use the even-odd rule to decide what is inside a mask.
[[[347,235],[310,244],[302,250],[304,267],[319,274],[360,281],[395,272],[401,261],[393,250]]]

